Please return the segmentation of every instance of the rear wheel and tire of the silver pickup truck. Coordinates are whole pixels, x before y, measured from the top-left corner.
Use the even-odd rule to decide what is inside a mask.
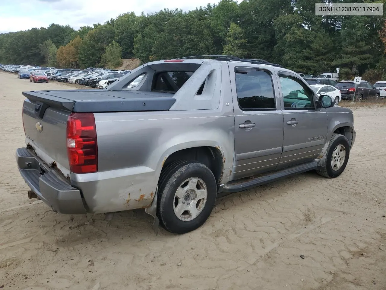
[[[184,191],[182,186],[191,188]],[[200,193],[202,198],[198,195]],[[207,166],[194,161],[173,162],[163,169],[158,183],[159,222],[173,234],[185,234],[198,229],[210,216],[216,196],[216,179]]]

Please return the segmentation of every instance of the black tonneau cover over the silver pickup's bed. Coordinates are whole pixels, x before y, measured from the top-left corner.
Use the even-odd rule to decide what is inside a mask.
[[[167,111],[173,94],[149,91],[34,90],[22,92],[31,102],[79,113]]]

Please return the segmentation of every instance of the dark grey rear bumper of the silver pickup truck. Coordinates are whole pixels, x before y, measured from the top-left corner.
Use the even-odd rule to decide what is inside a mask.
[[[16,150],[16,162],[25,183],[56,212],[86,213],[80,190],[71,186],[56,171],[34,156],[27,147]]]

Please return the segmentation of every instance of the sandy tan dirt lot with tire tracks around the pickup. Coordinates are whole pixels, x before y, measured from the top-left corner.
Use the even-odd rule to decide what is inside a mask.
[[[386,289],[385,107],[354,109],[340,177],[309,172],[226,196],[200,229],[156,236],[143,210],[108,222],[27,198],[14,157],[21,91],[64,87],[0,72],[0,288]]]

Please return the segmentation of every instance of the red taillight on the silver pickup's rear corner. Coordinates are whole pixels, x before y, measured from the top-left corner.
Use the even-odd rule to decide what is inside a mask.
[[[93,113],[72,113],[68,116],[67,156],[71,172],[98,171],[97,130]]]

